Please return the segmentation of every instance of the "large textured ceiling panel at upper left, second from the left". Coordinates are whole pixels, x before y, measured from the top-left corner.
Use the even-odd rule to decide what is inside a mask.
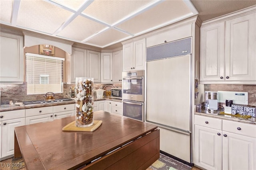
[[[38,0],[22,0],[18,13],[17,25],[54,33],[70,16],[72,12]]]

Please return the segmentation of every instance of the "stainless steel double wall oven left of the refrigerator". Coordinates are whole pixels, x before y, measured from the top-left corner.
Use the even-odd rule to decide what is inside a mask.
[[[144,70],[122,72],[123,115],[144,121]]]

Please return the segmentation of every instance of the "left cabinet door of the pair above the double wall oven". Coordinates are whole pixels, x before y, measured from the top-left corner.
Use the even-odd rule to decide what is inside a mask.
[[[133,63],[133,43],[123,45],[123,71],[132,70]]]

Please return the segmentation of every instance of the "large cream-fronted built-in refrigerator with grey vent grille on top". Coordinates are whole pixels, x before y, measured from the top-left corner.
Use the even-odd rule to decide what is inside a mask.
[[[145,119],[160,129],[160,150],[191,162],[191,38],[182,41],[147,49]]]

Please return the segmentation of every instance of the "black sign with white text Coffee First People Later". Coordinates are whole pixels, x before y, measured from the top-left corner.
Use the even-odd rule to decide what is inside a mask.
[[[255,117],[256,114],[256,107],[250,106],[240,106],[240,105],[231,105],[231,113],[233,115],[240,114],[240,115],[249,115],[251,117]]]

